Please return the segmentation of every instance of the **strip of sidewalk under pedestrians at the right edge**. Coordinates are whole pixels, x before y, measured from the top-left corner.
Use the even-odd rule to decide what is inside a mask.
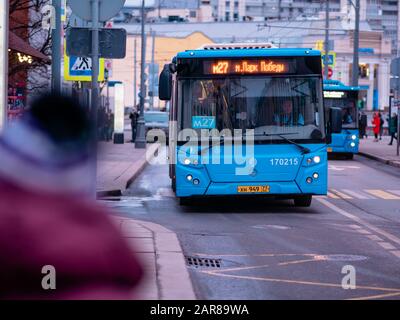
[[[360,152],[359,154],[400,168],[400,157],[397,156],[397,141],[394,140],[393,145],[389,146],[390,138],[382,137],[379,142],[374,142],[374,138],[369,136],[368,139],[360,140]]]

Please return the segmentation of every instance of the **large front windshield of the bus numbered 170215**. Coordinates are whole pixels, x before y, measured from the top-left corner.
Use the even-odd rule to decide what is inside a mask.
[[[325,137],[318,77],[182,79],[179,90],[181,129],[199,129],[193,119],[209,119],[206,129],[254,129],[256,140]]]

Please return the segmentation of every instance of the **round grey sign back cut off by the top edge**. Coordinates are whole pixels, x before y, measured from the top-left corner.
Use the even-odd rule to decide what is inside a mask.
[[[106,22],[115,17],[123,8],[126,0],[97,0],[99,5],[99,22]],[[69,0],[69,6],[72,11],[86,21],[92,21],[92,7],[93,0]]]

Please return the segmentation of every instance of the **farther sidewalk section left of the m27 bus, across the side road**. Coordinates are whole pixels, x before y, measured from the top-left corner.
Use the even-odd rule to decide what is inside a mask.
[[[97,196],[121,196],[146,167],[146,151],[154,154],[157,146],[135,149],[134,143],[99,143],[97,160]]]

